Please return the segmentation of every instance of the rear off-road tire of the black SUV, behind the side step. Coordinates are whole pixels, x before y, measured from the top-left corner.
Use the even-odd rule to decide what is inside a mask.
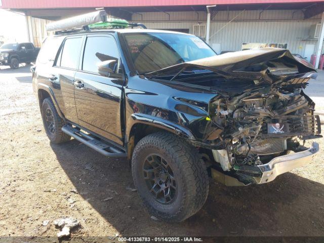
[[[53,114],[53,123],[54,123],[54,131],[51,132],[46,121],[47,112],[52,112]],[[53,101],[51,98],[46,98],[43,100],[41,106],[41,113],[43,118],[43,124],[45,128],[46,135],[50,139],[52,143],[64,143],[71,139],[71,137],[62,132],[62,127],[65,125],[64,120],[57,113]]]

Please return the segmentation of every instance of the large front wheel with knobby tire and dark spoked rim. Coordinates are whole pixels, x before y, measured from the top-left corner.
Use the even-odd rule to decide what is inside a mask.
[[[189,218],[208,196],[209,178],[198,151],[170,133],[150,134],[137,143],[132,174],[149,213],[164,221]]]

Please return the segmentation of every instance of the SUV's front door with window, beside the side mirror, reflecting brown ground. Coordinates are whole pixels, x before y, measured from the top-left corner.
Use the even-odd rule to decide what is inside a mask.
[[[115,38],[110,34],[88,35],[80,71],[74,76],[75,105],[80,126],[123,144],[120,126],[123,79],[98,74],[98,64],[111,59],[118,60],[115,71],[120,73],[120,53]]]

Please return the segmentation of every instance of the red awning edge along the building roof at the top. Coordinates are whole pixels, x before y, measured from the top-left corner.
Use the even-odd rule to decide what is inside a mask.
[[[2,0],[4,9],[97,8],[97,7],[158,7],[235,4],[318,3],[318,0]],[[0,1],[1,3],[1,1]],[[0,4],[1,5],[1,4]]]

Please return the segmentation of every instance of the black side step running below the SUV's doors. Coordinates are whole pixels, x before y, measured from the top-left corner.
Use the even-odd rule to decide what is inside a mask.
[[[127,157],[125,152],[117,149],[111,144],[108,144],[106,141],[93,138],[70,125],[62,127],[62,131],[107,157]]]

